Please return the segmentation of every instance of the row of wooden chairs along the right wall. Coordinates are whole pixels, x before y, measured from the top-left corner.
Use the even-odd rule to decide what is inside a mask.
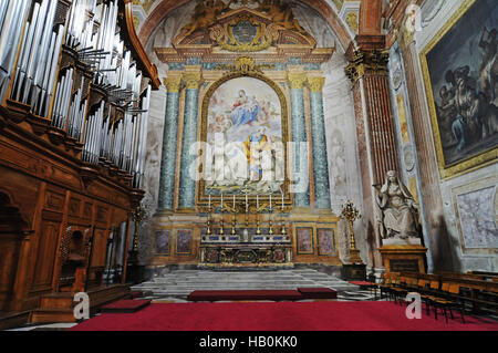
[[[463,282],[464,281],[464,282]],[[417,292],[424,301],[427,314],[430,314],[430,308],[434,309],[434,315],[437,320],[438,311],[444,313],[448,321],[448,313],[454,319],[454,310],[460,312],[461,320],[465,322],[466,302],[470,301],[473,308],[476,303],[485,303],[496,310],[498,305],[498,297],[494,290],[497,285],[486,285],[485,289],[490,292],[481,291],[481,294],[488,294],[487,300],[481,299],[483,295],[476,295],[475,289],[466,288],[466,282],[471,281],[475,285],[483,284],[480,280],[471,280],[458,278],[458,273],[440,274],[421,274],[421,273],[383,273],[377,288],[381,291],[381,299],[387,297],[396,302],[405,302],[405,298],[409,292]],[[491,283],[496,284],[496,282]],[[470,285],[467,283],[467,287]],[[489,288],[488,288],[489,287]],[[468,292],[470,290],[470,295]],[[467,292],[467,293],[466,293]],[[489,298],[489,294],[491,298]]]

